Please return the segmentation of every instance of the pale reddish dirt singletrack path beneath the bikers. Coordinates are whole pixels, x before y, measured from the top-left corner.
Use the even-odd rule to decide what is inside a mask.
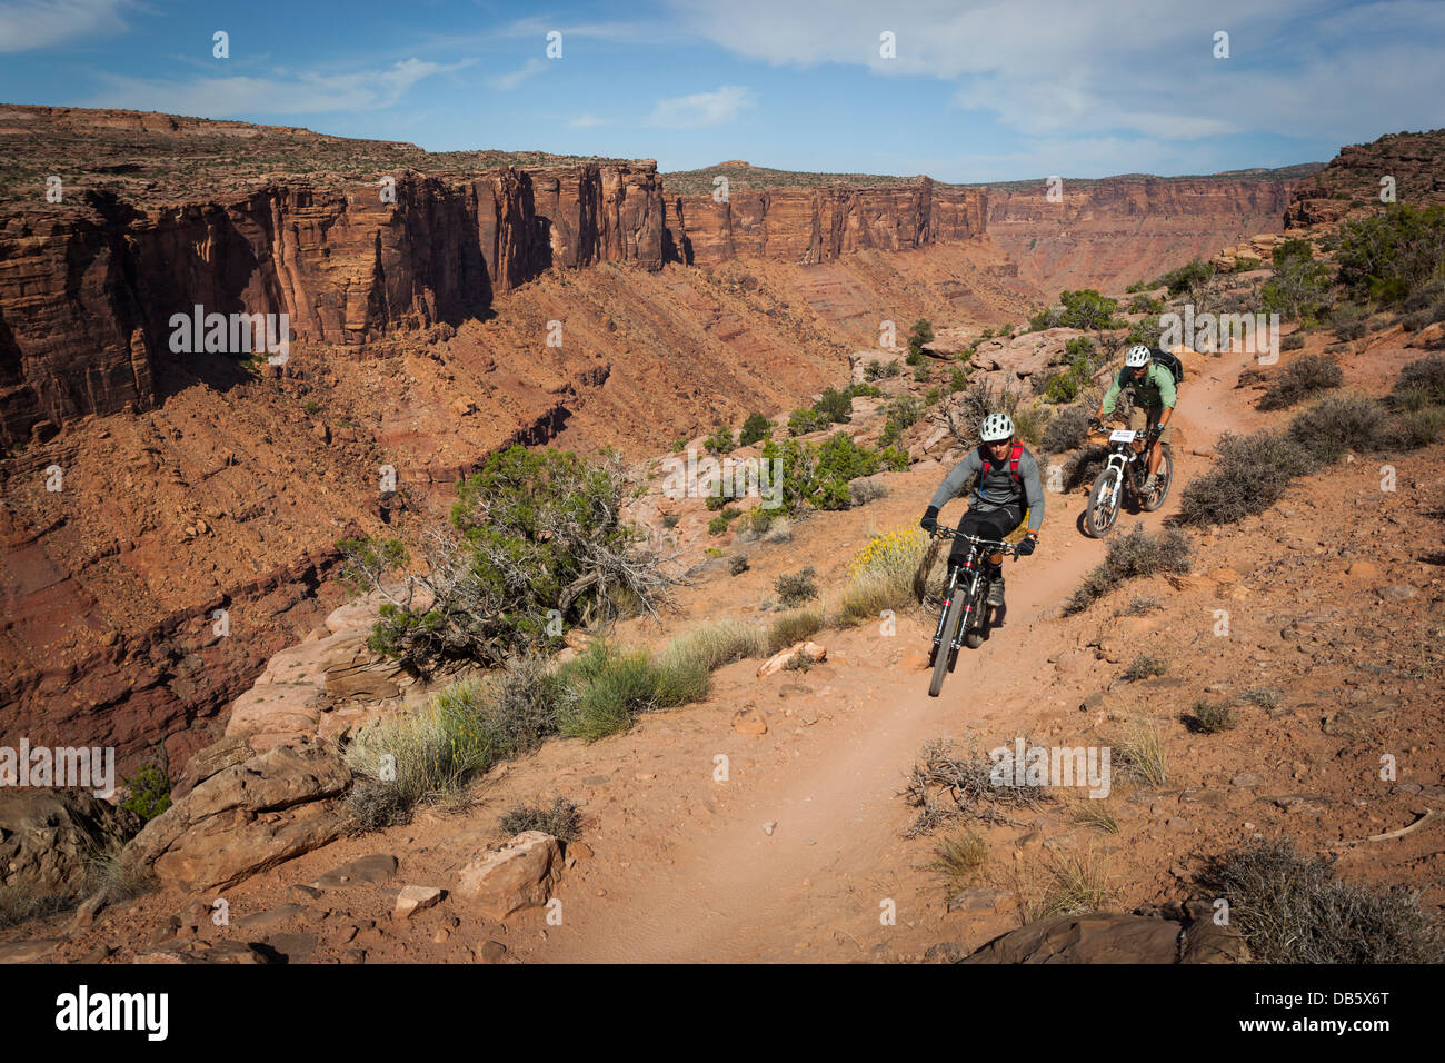
[[[1237,354],[1209,359],[1202,375],[1186,382],[1175,417],[1185,445],[1176,447],[1170,499],[1159,513],[1123,513],[1116,535],[1136,524],[1157,529],[1175,511],[1183,483],[1207,466],[1192,448],[1212,444],[1225,430],[1250,431],[1260,422],[1238,396],[1230,396],[1241,364]],[[926,495],[920,495],[918,512],[925,505]],[[666,808],[637,810],[669,839],[669,859],[640,859],[640,868],[623,865],[631,874],[617,881],[590,881],[588,895],[568,901],[564,926],[549,928],[548,943],[527,959],[838,959],[838,950],[827,946],[853,939],[851,955],[858,956],[857,946],[879,930],[886,901],[897,904],[897,920],[905,921],[907,898],[890,897],[899,884],[880,871],[886,856],[897,856],[907,821],[899,798],[903,772],[925,740],[958,736],[964,726],[983,720],[1009,726],[1042,696],[1039,677],[1051,670],[1046,658],[1058,646],[1045,645],[1038,632],[1104,554],[1103,542],[1077,529],[1082,505],[1077,493],[1049,496],[1043,545],[1035,557],[1006,568],[1003,626],[980,651],[959,655],[938,699],[928,697],[926,671],[879,659],[883,639],[868,628],[819,635],[829,662],[838,662],[838,675],[824,691],[840,707],[838,726],[814,727],[806,756],[799,749],[737,772],[725,784],[709,780],[705,785],[720,794],[709,803],[717,814],[701,821],[666,824],[672,814]],[[926,651],[932,632],[900,618],[897,635],[889,642]],[[985,680],[1003,696],[984,706],[970,691]],[[772,834],[767,823],[777,824]]]

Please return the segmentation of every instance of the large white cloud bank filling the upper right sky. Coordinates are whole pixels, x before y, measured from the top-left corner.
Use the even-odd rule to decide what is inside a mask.
[[[1445,124],[1445,4],[1370,0],[669,0],[681,25],[779,67],[832,62],[955,85],[1026,136],[1370,139]],[[1214,33],[1230,32],[1230,59]],[[879,55],[879,35],[897,55]]]

